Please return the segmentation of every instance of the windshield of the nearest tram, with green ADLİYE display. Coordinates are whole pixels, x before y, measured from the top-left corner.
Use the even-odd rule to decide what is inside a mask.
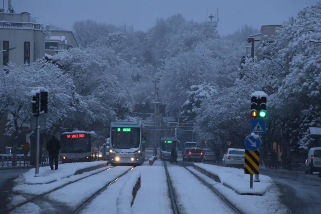
[[[111,144],[115,149],[138,148],[140,143],[140,128],[113,127],[111,129]]]

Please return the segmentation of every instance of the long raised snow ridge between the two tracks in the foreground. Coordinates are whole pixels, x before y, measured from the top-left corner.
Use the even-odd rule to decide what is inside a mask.
[[[131,203],[133,201],[133,188],[138,178],[141,177],[140,172],[132,172],[126,183],[121,188],[117,197],[117,214],[132,214]]]

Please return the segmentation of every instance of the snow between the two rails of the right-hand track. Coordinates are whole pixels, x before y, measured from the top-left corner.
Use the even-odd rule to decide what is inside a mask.
[[[167,166],[180,213],[233,213],[219,197],[184,167],[172,164]]]

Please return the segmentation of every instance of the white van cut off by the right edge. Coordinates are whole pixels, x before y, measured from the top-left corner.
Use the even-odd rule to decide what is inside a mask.
[[[305,161],[305,173],[321,172],[321,147],[311,148]]]

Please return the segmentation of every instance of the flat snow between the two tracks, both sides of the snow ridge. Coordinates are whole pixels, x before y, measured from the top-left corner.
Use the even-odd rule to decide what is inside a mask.
[[[148,164],[148,161],[145,161],[141,166],[135,167],[128,174],[119,178],[93,199],[82,210],[82,213],[92,211],[104,213],[106,210],[108,210],[108,213],[117,213],[116,199],[121,188],[134,172],[141,173],[141,187],[136,194],[131,211],[133,213],[153,214],[172,213],[164,167],[160,160],[155,161],[153,166]]]

